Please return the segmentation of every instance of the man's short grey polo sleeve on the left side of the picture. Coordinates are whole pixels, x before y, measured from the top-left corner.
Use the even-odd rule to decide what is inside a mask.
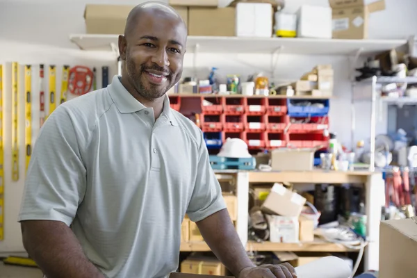
[[[86,169],[81,159],[84,142],[65,107],[44,122],[35,141],[18,221],[58,220],[68,226],[85,193]]]

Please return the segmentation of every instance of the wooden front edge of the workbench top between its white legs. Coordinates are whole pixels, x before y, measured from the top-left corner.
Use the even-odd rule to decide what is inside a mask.
[[[251,183],[366,183],[373,172],[313,170],[306,172],[249,172]]]

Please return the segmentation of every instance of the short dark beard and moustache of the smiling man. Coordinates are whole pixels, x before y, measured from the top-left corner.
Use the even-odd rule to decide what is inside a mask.
[[[133,63],[133,61],[128,56],[126,56],[126,70],[131,85],[133,85],[133,88],[136,89],[138,94],[141,97],[144,97],[145,99],[158,99],[165,95],[167,90],[170,90],[170,88],[172,87],[172,72],[164,69],[163,67],[159,67],[158,65],[154,64],[151,67],[140,65],[140,70],[138,71],[136,70],[136,65]],[[166,76],[167,85],[158,87],[156,85],[149,84],[149,86],[146,86],[145,83],[142,81],[142,79],[146,78],[146,76],[144,76],[144,74],[147,74],[145,72],[146,70],[157,70],[158,72],[168,73],[168,75]]]

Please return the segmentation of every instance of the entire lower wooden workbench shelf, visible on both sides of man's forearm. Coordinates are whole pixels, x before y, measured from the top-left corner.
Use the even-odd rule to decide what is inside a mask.
[[[342,244],[329,243],[320,238],[315,238],[314,241],[309,243],[271,243],[269,241],[257,243],[249,241],[246,250],[253,252],[358,252],[358,250],[352,250]],[[180,251],[208,252],[211,250],[204,241],[189,241],[181,243]]]

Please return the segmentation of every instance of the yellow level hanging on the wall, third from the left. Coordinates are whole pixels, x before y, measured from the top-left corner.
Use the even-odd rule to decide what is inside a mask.
[[[32,74],[31,74],[31,65],[26,65],[24,67],[24,93],[25,93],[25,136],[24,136],[24,145],[26,146],[26,171],[28,170],[29,161],[31,160],[32,154]]]

